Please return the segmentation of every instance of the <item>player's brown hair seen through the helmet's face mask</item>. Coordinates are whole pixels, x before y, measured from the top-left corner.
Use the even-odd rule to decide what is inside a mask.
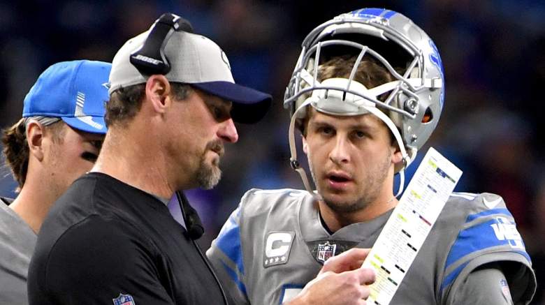
[[[356,59],[357,57],[352,55],[343,55],[329,59],[318,67],[317,80],[319,82],[323,82],[329,78],[350,77],[352,68],[354,67],[354,64],[356,64]],[[392,82],[395,80],[395,78],[385,66],[377,62],[372,57],[363,57],[358,65],[358,68],[356,69],[354,80],[370,89],[387,82]],[[379,96],[379,101],[384,101],[387,98],[387,94],[388,93]],[[303,135],[306,135],[306,126],[309,119],[310,117],[307,115],[305,119],[298,119],[296,121],[296,127],[301,131],[301,133],[303,133]]]

